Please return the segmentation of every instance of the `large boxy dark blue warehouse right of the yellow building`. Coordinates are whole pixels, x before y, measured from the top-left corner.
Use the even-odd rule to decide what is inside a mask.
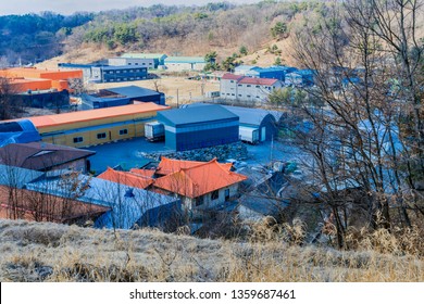
[[[158,113],[165,127],[165,145],[176,151],[238,141],[238,116],[210,104]]]

